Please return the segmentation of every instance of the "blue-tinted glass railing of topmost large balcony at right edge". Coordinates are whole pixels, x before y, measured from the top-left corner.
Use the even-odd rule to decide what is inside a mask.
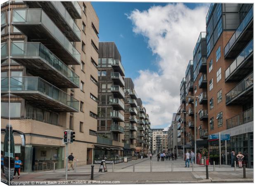
[[[249,12],[247,13],[247,15],[244,17],[244,20],[242,21],[242,23],[237,27],[237,30],[230,38],[228,44],[225,46],[225,48],[224,48],[225,55],[224,56],[226,56],[226,54],[228,54],[230,48],[235,44],[235,42],[237,41],[237,39],[239,38],[241,33],[244,31],[244,29],[247,27],[247,25],[249,24],[251,19],[253,19],[253,16],[254,16],[254,13],[253,13],[253,6],[252,6],[251,9],[249,10]]]

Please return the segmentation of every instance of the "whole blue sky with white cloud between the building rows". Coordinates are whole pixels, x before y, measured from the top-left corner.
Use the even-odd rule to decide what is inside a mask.
[[[125,76],[132,78],[151,128],[171,125],[180,106],[180,82],[209,4],[92,2],[100,20],[100,42],[114,41]]]

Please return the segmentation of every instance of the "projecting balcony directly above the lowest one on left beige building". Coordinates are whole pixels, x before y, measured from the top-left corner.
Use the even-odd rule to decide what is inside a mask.
[[[12,42],[11,59],[60,88],[79,88],[79,76],[39,42]]]

